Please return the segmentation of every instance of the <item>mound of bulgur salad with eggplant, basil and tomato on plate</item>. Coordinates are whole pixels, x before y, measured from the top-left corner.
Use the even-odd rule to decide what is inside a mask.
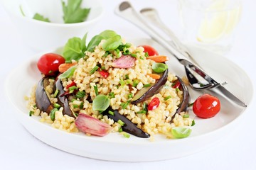
[[[186,112],[188,90],[169,72],[168,57],[125,42],[113,30],[87,45],[86,37],[70,38],[62,55],[47,53],[38,60],[42,79],[26,97],[31,116],[85,135],[190,135],[195,123]]]

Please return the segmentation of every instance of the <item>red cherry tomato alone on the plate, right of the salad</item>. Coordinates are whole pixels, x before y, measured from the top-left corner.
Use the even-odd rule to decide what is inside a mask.
[[[203,94],[193,103],[193,112],[199,118],[212,118],[220,111],[220,101],[215,96]]]

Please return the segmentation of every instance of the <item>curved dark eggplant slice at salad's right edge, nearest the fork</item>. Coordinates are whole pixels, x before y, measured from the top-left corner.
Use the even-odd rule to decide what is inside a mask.
[[[190,101],[188,87],[184,84],[184,82],[181,80],[180,77],[177,77],[177,78],[178,79],[176,81],[180,81],[180,83],[181,83],[181,91],[183,91],[183,97],[182,97],[181,104],[178,106],[178,109],[175,114],[186,111],[186,109],[188,108],[188,103]]]

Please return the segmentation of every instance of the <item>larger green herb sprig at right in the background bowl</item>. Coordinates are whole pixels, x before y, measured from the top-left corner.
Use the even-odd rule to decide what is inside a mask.
[[[81,8],[82,0],[68,0],[68,4],[62,1],[64,23],[81,23],[85,21],[90,8]]]

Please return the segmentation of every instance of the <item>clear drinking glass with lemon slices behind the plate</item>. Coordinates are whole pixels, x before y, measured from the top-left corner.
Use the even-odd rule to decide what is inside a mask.
[[[184,41],[225,54],[241,12],[239,0],[179,0]]]

